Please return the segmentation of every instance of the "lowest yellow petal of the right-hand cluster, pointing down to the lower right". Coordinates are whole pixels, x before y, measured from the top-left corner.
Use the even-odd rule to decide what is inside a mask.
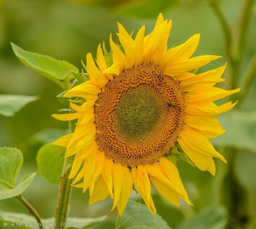
[[[181,149],[188,155],[189,159],[202,171],[208,170],[212,175],[215,175],[215,164],[211,156],[205,156],[203,154],[197,153],[191,149],[187,142],[183,138],[178,139]]]

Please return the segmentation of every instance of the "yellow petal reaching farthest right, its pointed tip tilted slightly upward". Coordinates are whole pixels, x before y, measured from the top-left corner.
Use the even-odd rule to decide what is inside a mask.
[[[218,99],[222,99],[228,95],[232,95],[240,91],[240,88],[237,88],[235,90],[226,91],[221,88],[217,87],[209,87],[209,88],[198,88],[194,91],[190,91],[186,94],[186,97],[188,98],[186,100],[186,104],[204,104],[209,103]]]

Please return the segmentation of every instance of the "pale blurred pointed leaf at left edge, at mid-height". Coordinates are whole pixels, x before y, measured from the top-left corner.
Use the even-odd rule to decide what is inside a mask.
[[[38,96],[0,95],[0,114],[10,117],[28,103],[38,99]]]

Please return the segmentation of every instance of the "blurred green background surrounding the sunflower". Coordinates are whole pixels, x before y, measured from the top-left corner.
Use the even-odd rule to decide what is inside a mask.
[[[233,26],[244,1],[217,2],[228,25]],[[14,55],[10,42],[25,50],[67,60],[81,69],[81,59],[85,60],[88,52],[95,55],[99,43],[105,41],[109,49],[109,34],[117,32],[117,21],[128,32],[134,30],[135,33],[145,24],[146,33],[149,33],[159,12],[164,14],[165,19],[172,19],[168,47],[179,45],[200,33],[200,43],[194,55],[221,55],[223,58],[199,71],[225,64],[228,59],[225,38],[220,21],[207,1],[0,0],[0,94],[40,96],[39,100],[22,108],[14,117],[0,116],[0,146],[17,147],[24,154],[20,177],[37,171],[36,154],[42,145],[67,132],[68,123],[55,120],[51,114],[68,105],[61,104],[56,98],[62,89],[23,65]],[[182,202],[178,209],[152,190],[158,214],[174,229],[256,228],[255,79],[250,87],[243,88],[243,73],[256,51],[255,4],[252,4],[252,15],[246,26],[244,55],[238,74],[238,87],[242,88],[241,91],[246,90],[246,95],[239,107],[220,115],[220,123],[228,130],[223,136],[213,139],[228,164],[215,160],[217,173],[213,177],[185,162],[178,162],[180,176],[194,203],[193,207]],[[223,76],[227,80],[219,83],[219,87],[230,89],[232,75],[229,72],[227,69]],[[58,185],[49,184],[38,174],[23,193],[43,218],[54,215],[57,194]],[[110,212],[111,199],[93,206],[88,205],[88,199],[89,193],[82,194],[81,189],[73,189],[70,215],[108,215],[106,222],[92,228],[114,228],[117,212]],[[141,201],[135,193],[132,193],[131,199]],[[14,198],[0,201],[0,208],[27,213]]]

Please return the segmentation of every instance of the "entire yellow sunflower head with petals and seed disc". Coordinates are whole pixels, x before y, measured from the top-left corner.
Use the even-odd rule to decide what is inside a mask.
[[[167,50],[171,27],[172,21],[160,14],[153,32],[144,36],[142,26],[133,39],[118,23],[121,45],[110,34],[111,64],[99,45],[97,65],[91,53],[86,56],[90,79],[64,94],[84,99],[82,105],[70,102],[73,113],[53,114],[62,121],[77,119],[74,133],[53,144],[67,147],[66,157],[75,155],[69,178],[83,192],[89,188],[89,204],[110,195],[112,210],[117,207],[122,215],[134,187],[156,215],[152,183],[172,204],[179,206],[180,198],[192,205],[176,166],[166,158],[176,144],[200,170],[212,175],[212,157],[226,162],[209,139],[225,132],[215,115],[236,103],[217,106],[213,101],[240,89],[214,87],[224,81],[220,77],[226,65],[191,73],[220,56],[190,58],[199,34]]]

